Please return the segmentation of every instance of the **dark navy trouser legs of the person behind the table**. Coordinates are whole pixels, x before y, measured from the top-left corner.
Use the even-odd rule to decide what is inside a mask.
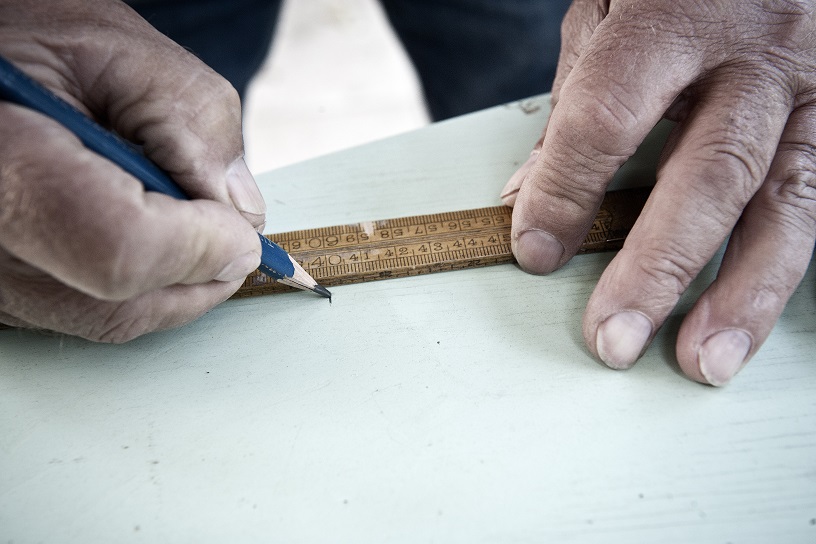
[[[299,0],[295,0],[299,1]],[[266,58],[280,0],[131,0],[145,19],[243,97]],[[569,0],[381,0],[445,119],[552,87]]]

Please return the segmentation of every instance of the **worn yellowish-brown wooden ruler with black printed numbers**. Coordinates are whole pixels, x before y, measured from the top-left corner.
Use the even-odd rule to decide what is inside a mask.
[[[606,194],[578,253],[620,249],[651,187]],[[512,208],[497,206],[268,234],[326,287],[514,262]],[[260,272],[233,298],[291,291]]]

